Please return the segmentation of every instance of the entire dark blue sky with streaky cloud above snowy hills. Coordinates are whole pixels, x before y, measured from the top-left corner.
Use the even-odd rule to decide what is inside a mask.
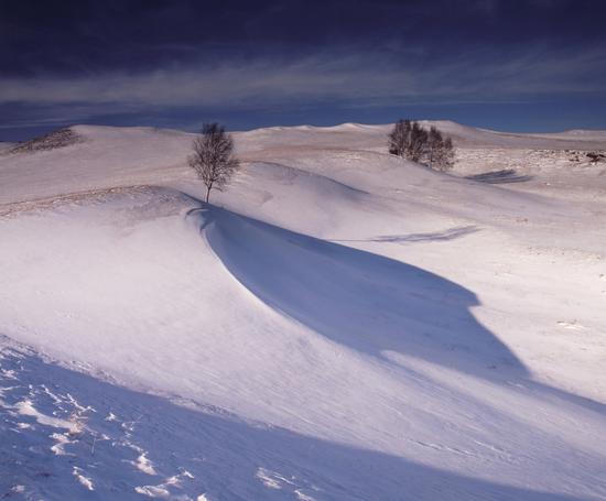
[[[0,0],[0,117],[606,129],[606,1]]]

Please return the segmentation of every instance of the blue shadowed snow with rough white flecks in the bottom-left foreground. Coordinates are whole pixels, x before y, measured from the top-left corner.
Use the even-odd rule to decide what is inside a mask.
[[[192,403],[176,405],[22,349],[4,350],[0,366],[11,378],[0,377],[0,498],[595,499],[465,477]],[[13,411],[24,401],[35,415]],[[83,426],[68,433],[43,415],[76,415]]]

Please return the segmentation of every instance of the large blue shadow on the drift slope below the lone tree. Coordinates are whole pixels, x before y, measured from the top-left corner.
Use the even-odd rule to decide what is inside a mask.
[[[551,388],[470,308],[469,290],[420,268],[272,226],[210,205],[192,209],[217,257],[250,292],[316,333],[364,353],[412,356],[535,396],[606,405]],[[393,360],[390,357],[389,360]]]

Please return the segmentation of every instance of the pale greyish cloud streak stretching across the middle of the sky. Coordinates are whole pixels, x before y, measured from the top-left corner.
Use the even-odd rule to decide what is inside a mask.
[[[434,64],[382,54],[320,54],[293,62],[229,59],[212,66],[164,67],[86,77],[6,78],[0,104],[39,106],[228,107],[253,109],[300,102],[351,106],[393,102],[507,102],[530,96],[603,94],[606,51],[466,53]]]

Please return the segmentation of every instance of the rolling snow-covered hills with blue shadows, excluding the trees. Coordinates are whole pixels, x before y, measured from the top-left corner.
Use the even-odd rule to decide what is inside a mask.
[[[606,132],[439,127],[3,149],[0,498],[605,500]]]

